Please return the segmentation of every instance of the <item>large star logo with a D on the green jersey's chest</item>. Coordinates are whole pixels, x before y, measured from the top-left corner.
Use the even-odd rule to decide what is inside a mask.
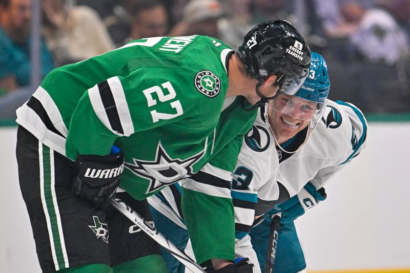
[[[150,180],[150,185],[146,192],[146,194],[149,194],[163,186],[192,176],[192,165],[202,157],[203,153],[204,151],[201,151],[185,160],[173,159],[159,141],[154,161],[133,158],[134,164],[125,162],[125,167],[135,175]]]

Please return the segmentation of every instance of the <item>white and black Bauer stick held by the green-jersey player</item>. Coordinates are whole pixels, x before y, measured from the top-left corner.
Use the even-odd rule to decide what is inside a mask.
[[[131,207],[129,207],[124,201],[118,197],[111,199],[111,204],[118,209],[118,211],[124,214],[128,219],[141,228],[146,234],[148,234],[154,241],[160,244],[165,250],[178,259],[183,265],[190,269],[194,273],[206,272],[199,264],[192,260],[185,252],[181,251],[165,236],[160,234],[158,230],[150,223],[144,220],[139,214],[137,214]]]

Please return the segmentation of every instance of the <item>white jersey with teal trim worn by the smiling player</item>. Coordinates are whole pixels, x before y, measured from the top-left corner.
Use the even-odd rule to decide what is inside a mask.
[[[284,201],[282,195],[295,196],[309,181],[316,190],[321,188],[362,151],[366,131],[367,122],[353,104],[328,100],[322,120],[303,148],[297,151],[307,129],[281,145],[285,151],[297,151],[286,153],[275,146],[261,109],[244,137],[233,174],[231,196],[237,239],[249,232],[254,216]]]

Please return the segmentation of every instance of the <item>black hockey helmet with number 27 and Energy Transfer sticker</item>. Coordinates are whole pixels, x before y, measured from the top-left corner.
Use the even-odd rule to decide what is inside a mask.
[[[311,60],[311,51],[302,35],[285,20],[254,27],[245,35],[238,55],[259,82],[277,75],[279,91],[289,95],[302,86]]]

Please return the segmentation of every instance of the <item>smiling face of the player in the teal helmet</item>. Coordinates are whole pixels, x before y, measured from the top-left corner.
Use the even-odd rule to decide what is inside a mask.
[[[279,93],[269,103],[269,122],[279,144],[308,127],[317,110],[317,104],[283,93]]]

